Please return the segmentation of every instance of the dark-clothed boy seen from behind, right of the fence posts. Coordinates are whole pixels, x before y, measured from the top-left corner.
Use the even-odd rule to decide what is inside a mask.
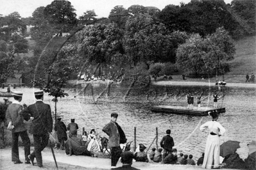
[[[164,136],[162,138],[162,140],[160,141],[160,146],[162,148],[164,148],[164,153],[162,158],[164,159],[166,157],[166,155],[168,155],[168,153],[171,152],[171,150],[173,149],[173,146],[175,146],[175,142],[173,141],[173,137],[171,137],[171,130],[166,130],[166,136]]]

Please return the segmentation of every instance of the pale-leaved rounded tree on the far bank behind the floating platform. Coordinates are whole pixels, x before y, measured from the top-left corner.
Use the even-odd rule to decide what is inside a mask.
[[[177,49],[177,63],[185,72],[213,73],[223,61],[234,59],[235,47],[228,32],[220,27],[215,33],[202,38],[191,35]]]

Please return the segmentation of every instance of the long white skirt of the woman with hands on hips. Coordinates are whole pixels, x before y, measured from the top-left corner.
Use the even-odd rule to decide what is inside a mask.
[[[203,168],[219,167],[220,139],[219,135],[208,135],[205,146]]]

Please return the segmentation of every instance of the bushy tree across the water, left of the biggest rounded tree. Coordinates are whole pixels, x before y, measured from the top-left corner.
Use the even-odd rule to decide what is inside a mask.
[[[77,47],[83,63],[115,64],[123,56],[123,32],[116,24],[85,26],[77,33]]]

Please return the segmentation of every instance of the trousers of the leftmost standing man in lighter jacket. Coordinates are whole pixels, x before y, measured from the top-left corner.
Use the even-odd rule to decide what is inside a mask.
[[[28,132],[12,132],[12,161],[19,161],[19,136],[21,136],[22,143],[24,145],[25,160],[30,161],[28,155],[30,155],[30,137]]]

